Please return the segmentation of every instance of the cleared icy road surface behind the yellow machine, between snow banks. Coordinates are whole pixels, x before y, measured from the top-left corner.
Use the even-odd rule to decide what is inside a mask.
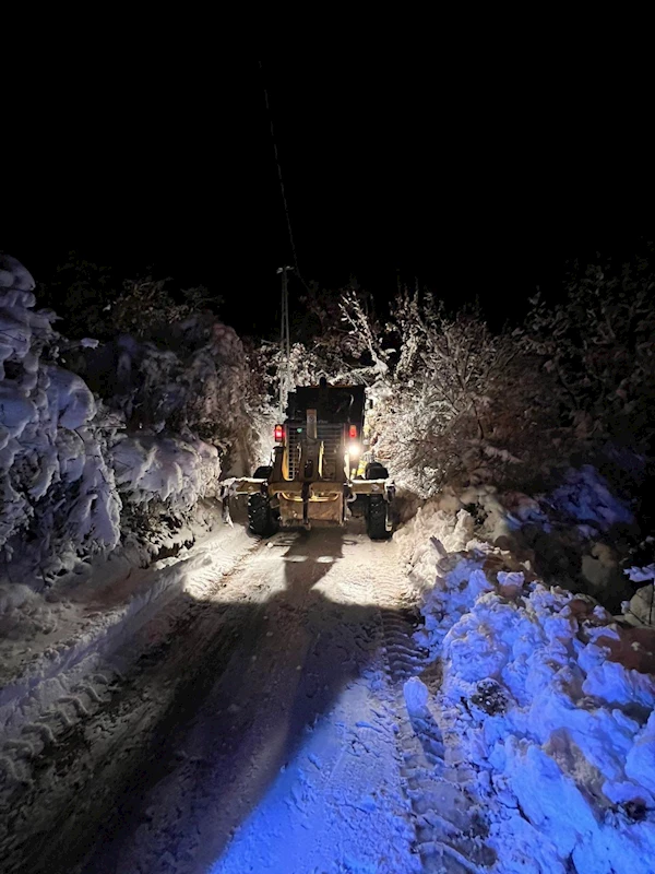
[[[169,602],[13,787],[2,871],[424,870],[390,672],[390,647],[419,664],[403,592],[393,542],[327,530]]]

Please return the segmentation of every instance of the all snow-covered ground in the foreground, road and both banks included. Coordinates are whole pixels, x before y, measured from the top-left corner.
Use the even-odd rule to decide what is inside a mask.
[[[456,506],[384,543],[222,525],[81,581],[49,633],[27,612],[33,652],[3,645],[2,870],[655,870],[654,633]]]

